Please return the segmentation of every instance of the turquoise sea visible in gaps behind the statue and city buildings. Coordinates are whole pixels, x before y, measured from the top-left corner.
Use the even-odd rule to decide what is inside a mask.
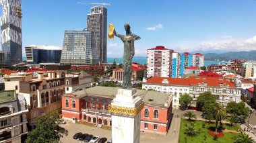
[[[113,63],[114,59],[116,59],[116,62],[122,63],[123,58],[106,58],[106,62]],[[139,64],[147,64],[147,57],[144,56],[134,56],[132,62],[137,62]],[[212,61],[212,60],[205,60],[204,65],[209,66],[210,64],[224,64],[226,62],[220,62],[220,61]]]

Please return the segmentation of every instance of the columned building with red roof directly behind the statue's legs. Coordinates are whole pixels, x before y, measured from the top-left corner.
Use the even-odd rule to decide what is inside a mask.
[[[114,81],[123,81],[123,67],[113,69],[113,75],[111,80]],[[140,81],[141,75],[145,74],[146,67],[137,62],[131,62],[131,82],[136,83]]]

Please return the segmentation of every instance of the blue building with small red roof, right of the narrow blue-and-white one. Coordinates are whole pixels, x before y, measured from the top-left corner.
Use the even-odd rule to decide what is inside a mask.
[[[192,55],[189,54],[189,52],[185,52],[185,53],[181,54],[180,77],[184,76],[185,68],[190,67],[190,66],[192,66]]]

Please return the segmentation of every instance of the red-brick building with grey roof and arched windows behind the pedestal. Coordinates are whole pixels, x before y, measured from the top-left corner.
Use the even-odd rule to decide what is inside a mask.
[[[78,120],[96,126],[112,126],[108,106],[118,87],[92,87],[62,97],[62,115],[67,120]],[[141,110],[141,131],[166,134],[172,118],[172,95],[156,91],[137,90],[145,103]]]

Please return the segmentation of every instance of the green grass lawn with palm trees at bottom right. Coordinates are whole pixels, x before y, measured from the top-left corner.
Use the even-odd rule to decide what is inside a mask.
[[[214,140],[214,137],[210,136],[208,134],[208,131],[210,131],[210,128],[214,128],[215,127],[215,124],[205,124],[205,128],[202,128],[202,124],[204,122],[201,122],[201,121],[196,121],[196,122],[193,122],[194,125],[195,125],[195,129],[196,130],[199,130],[201,129],[201,132],[200,134],[197,134],[197,136],[195,137],[189,137],[187,136],[186,134],[184,134],[185,132],[185,124],[189,124],[189,122],[187,122],[187,120],[185,119],[182,119],[181,120],[181,130],[180,130],[180,134],[179,134],[179,143],[185,143],[185,137],[187,137],[187,142],[188,143],[192,143],[192,142],[234,142],[234,137],[238,136],[238,134],[236,133],[230,133],[230,132],[223,132],[225,136],[223,137],[220,137],[218,138],[218,140]],[[218,124],[220,125],[220,123]],[[224,127],[228,130],[241,130],[241,128],[238,126],[238,125],[234,125],[233,127],[230,127],[228,125],[225,125],[224,124]],[[206,139],[205,139],[205,136],[206,136]]]

